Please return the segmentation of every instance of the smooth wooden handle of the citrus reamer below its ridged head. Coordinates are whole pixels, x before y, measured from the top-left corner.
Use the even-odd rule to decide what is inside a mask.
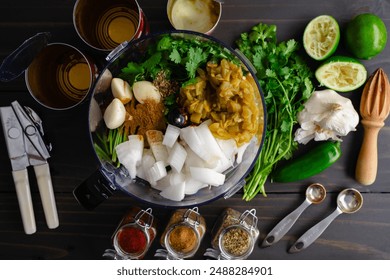
[[[378,169],[378,133],[384,123],[362,120],[364,127],[363,143],[356,163],[355,178],[368,186],[375,182]]]

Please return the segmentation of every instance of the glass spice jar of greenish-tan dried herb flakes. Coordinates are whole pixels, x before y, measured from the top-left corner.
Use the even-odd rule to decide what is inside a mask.
[[[241,213],[226,208],[212,229],[211,246],[205,256],[215,259],[246,259],[259,237],[256,209]]]

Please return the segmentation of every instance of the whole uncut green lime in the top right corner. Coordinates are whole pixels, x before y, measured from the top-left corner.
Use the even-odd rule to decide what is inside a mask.
[[[386,25],[380,17],[371,13],[353,18],[344,34],[346,48],[360,59],[371,59],[386,47]]]

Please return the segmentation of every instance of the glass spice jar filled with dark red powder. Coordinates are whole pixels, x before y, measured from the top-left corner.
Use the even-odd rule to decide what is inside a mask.
[[[131,208],[112,235],[114,250],[103,256],[113,259],[142,259],[156,237],[156,222],[152,209]]]

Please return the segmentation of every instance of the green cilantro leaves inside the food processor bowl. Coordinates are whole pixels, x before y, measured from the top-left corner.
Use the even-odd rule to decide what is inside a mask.
[[[230,51],[213,41],[165,34],[148,45],[140,62],[129,62],[120,76],[133,84],[139,80],[153,81],[163,71],[168,79],[190,83],[198,68],[224,58],[237,61]]]

